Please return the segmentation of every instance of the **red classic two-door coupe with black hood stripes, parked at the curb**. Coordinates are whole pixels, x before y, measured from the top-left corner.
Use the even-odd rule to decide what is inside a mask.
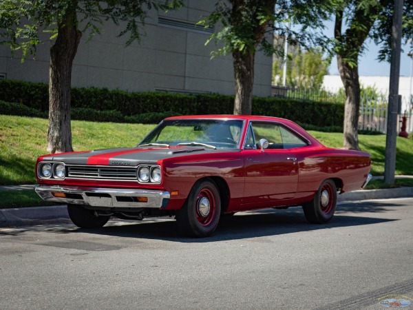
[[[222,214],[268,207],[301,205],[310,223],[326,223],[337,194],[364,187],[369,172],[370,154],[325,147],[286,119],[176,116],[136,147],[39,157],[36,192],[67,203],[78,227],[176,216],[202,237]]]

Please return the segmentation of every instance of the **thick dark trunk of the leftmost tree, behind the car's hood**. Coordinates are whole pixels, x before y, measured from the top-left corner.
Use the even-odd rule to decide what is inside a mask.
[[[70,125],[70,87],[72,63],[81,41],[82,32],[77,29],[77,1],[65,20],[58,25],[56,42],[50,48],[49,70],[49,127],[47,152],[72,152],[72,128]]]

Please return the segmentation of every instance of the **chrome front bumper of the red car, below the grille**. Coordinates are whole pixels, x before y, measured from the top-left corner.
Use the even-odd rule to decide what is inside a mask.
[[[92,207],[107,207],[110,209],[165,208],[167,207],[170,198],[169,192],[146,189],[112,189],[37,185],[34,187],[34,190],[37,194],[39,194],[39,196],[41,196],[41,198],[47,201],[54,201],[56,203],[74,203],[76,205],[90,205]],[[63,197],[56,197],[56,195]],[[144,197],[147,198],[147,202],[138,201],[138,198]]]

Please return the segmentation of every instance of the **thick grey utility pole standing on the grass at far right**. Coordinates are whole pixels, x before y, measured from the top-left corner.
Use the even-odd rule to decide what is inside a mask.
[[[403,17],[403,0],[394,0],[392,25],[392,62],[390,64],[390,86],[388,104],[388,125],[385,138],[384,182],[394,183],[396,171],[396,137],[397,114],[399,113],[399,76],[401,53],[401,19]]]

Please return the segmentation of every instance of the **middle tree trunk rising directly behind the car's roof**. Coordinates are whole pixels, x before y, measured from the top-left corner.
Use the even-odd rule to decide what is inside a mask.
[[[255,52],[233,51],[235,76],[234,114],[251,114]]]

